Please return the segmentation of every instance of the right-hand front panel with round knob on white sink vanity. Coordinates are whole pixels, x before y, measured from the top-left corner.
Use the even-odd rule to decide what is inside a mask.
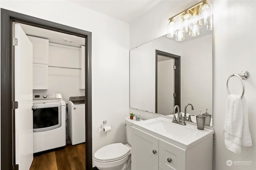
[[[159,140],[159,167],[162,170],[186,170],[186,150]]]

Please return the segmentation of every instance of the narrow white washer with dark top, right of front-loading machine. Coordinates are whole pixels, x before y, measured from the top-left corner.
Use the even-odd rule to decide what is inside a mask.
[[[85,142],[85,96],[69,98],[68,137],[72,145]]]

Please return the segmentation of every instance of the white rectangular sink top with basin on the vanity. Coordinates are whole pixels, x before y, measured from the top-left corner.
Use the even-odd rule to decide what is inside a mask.
[[[172,123],[172,119],[164,117],[148,119],[134,124],[137,128],[184,149],[188,149],[214,134],[211,129],[198,130],[195,125],[178,125]]]

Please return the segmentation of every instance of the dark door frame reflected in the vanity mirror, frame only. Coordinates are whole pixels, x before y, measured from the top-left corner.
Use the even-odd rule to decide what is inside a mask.
[[[166,53],[164,51],[156,50],[156,112],[157,113],[157,56],[162,55],[164,57],[170,57],[174,59],[176,69],[174,70],[174,92],[176,96],[174,98],[174,105],[180,106],[180,56],[171,53]],[[181,107],[181,106],[180,106]],[[172,114],[172,113],[170,113]]]

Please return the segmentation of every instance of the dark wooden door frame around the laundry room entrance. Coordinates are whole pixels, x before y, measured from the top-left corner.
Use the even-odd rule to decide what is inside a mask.
[[[15,164],[14,54],[12,23],[24,23],[85,38],[86,70],[86,170],[92,170],[92,33],[1,8],[1,169],[13,170]]]

